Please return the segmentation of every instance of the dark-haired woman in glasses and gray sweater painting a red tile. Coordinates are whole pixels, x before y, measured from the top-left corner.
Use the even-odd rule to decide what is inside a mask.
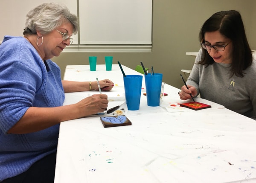
[[[180,99],[192,96],[216,102],[237,113],[256,117],[256,60],[244,24],[235,10],[217,12],[203,24],[201,49]]]

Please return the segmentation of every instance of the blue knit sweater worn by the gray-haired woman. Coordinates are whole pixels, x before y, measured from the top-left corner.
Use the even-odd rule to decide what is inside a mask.
[[[5,36],[0,45],[0,181],[26,171],[57,149],[59,125],[30,134],[7,134],[29,107],[64,102],[60,69],[43,61],[23,37]]]

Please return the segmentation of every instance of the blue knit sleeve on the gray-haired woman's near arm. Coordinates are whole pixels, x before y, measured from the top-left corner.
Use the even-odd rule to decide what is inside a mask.
[[[33,64],[37,56],[23,50],[26,46],[6,47],[0,55],[0,129],[4,133],[33,105],[42,83],[41,68]]]

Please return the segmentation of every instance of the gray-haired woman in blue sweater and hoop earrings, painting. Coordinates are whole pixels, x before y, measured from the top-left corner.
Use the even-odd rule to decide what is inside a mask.
[[[54,182],[60,122],[99,113],[108,96],[95,94],[63,106],[65,92],[97,90],[96,81],[61,81],[50,59],[78,31],[66,6],[44,3],[27,14],[24,37],[5,36],[0,45],[0,182]],[[99,81],[108,91],[113,82]]]

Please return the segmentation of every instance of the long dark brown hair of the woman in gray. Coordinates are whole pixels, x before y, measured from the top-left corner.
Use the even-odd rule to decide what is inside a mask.
[[[232,63],[231,63],[231,76],[243,77],[245,70],[252,64],[253,56],[250,46],[248,44],[244,24],[239,12],[235,10],[221,11],[213,14],[206,20],[201,27],[199,33],[199,41],[204,43],[204,35],[206,32],[219,31],[221,35],[231,39],[233,44]],[[209,55],[206,49],[203,49],[202,60],[198,63],[201,65],[213,64],[214,60]]]

